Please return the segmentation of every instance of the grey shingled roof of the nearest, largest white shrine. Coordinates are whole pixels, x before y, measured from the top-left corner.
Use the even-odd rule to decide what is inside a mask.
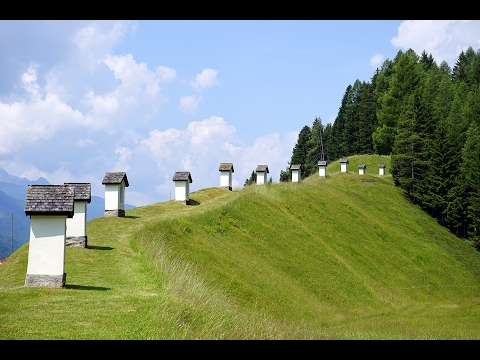
[[[75,190],[68,185],[28,185],[25,215],[73,217]]]

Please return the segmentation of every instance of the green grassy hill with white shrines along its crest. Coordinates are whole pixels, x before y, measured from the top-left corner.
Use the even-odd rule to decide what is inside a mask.
[[[0,265],[0,339],[480,339],[480,254],[389,166],[91,220],[63,289],[24,287],[26,243]]]

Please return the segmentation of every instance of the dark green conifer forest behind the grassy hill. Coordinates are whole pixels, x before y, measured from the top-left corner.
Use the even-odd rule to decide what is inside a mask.
[[[291,164],[301,178],[361,154],[389,155],[408,199],[480,248],[480,50],[462,51],[453,69],[431,54],[400,50],[370,82],[348,85],[333,124],[317,117],[299,132]]]

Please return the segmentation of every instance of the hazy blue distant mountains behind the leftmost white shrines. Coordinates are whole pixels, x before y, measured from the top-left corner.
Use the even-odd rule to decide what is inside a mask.
[[[50,185],[43,177],[30,181],[10,175],[0,168],[0,259],[10,256],[12,251],[29,241],[30,217],[25,215],[25,199],[30,184]],[[134,207],[125,204],[125,210]],[[92,196],[92,201],[87,204],[87,221],[103,217],[104,212],[105,199]]]

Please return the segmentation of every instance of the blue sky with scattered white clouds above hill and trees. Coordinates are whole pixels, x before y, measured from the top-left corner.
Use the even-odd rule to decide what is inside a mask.
[[[51,184],[125,171],[126,202],[220,185],[257,165],[273,182],[298,133],[335,121],[356,79],[399,50],[453,68],[480,48],[480,21],[0,21],[0,167]]]

